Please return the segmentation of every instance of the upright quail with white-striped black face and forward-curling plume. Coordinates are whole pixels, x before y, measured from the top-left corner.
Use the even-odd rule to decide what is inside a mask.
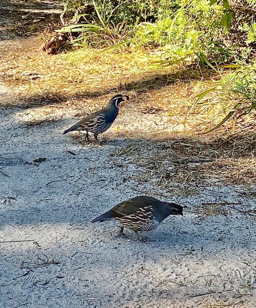
[[[85,119],[76,123],[71,128],[68,128],[63,135],[76,130],[84,130],[86,131],[85,140],[87,139],[89,141],[88,132],[92,132],[95,140],[99,143],[97,139],[98,134],[105,132],[114,122],[119,111],[118,105],[124,101],[123,96],[125,96],[126,99],[129,99],[129,96],[127,95],[118,94],[113,96],[107,106],[101,110],[93,112],[91,115],[88,115]]]

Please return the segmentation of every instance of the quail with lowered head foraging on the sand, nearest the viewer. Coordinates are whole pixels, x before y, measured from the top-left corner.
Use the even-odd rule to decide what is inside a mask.
[[[139,196],[119,203],[108,212],[93,219],[96,221],[118,220],[122,225],[120,235],[124,235],[124,227],[134,232],[151,231],[169,215],[182,215],[183,207],[170,202],[162,202],[152,197]],[[142,240],[138,236],[139,240]]]

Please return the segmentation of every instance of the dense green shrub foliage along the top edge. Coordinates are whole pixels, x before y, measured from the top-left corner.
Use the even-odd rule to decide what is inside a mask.
[[[171,46],[189,54],[195,36],[197,44],[210,41],[225,46],[239,44],[256,47],[255,0],[65,0],[69,10],[76,10],[90,23],[122,31],[134,27],[134,43],[146,46]],[[100,16],[100,18],[99,18]],[[102,23],[103,22],[103,23]],[[120,34],[120,31],[119,31]],[[85,41],[92,41],[88,33]],[[122,37],[126,36],[122,33]],[[123,40],[122,40],[123,41]],[[112,40],[116,42],[116,40]],[[100,46],[100,45],[97,45]]]

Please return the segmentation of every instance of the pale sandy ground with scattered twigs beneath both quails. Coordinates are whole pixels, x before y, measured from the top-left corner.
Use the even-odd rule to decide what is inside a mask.
[[[13,91],[3,80],[0,100],[8,102]],[[155,123],[163,124],[163,135],[172,138],[159,114],[123,108],[100,147],[62,136],[75,123],[74,111],[56,109],[63,120],[24,125],[43,116],[42,108],[0,109],[1,308],[256,307],[256,227],[248,213],[255,200],[243,197],[243,187],[178,196],[138,179],[143,169],[113,153],[136,142],[150,157],[146,128],[153,134]],[[39,157],[47,159],[31,164]],[[188,208],[184,217],[142,233],[155,240],[150,244],[129,230],[129,239],[119,237],[116,222],[90,222],[139,192]],[[205,216],[196,211],[203,202],[230,205],[225,215]]]

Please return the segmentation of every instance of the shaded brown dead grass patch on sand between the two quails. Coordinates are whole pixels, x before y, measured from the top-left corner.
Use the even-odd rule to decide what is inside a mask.
[[[144,182],[154,183],[177,195],[196,194],[205,186],[250,185],[256,178],[254,140],[256,134],[227,137],[227,140],[168,139],[144,142],[128,155],[141,172]],[[146,151],[146,155],[145,155]],[[209,211],[209,209],[203,209]],[[212,212],[220,212],[217,205]]]

